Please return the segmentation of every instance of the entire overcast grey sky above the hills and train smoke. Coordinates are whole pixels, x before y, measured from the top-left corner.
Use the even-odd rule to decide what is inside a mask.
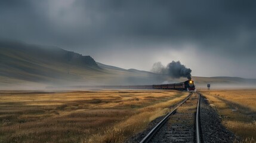
[[[192,76],[256,78],[256,1],[0,1],[0,38],[125,69],[172,60]]]

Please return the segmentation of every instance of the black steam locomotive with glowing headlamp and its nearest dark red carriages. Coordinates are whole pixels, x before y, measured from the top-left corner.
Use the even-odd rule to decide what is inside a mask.
[[[153,85],[153,89],[173,89],[178,91],[195,91],[196,87],[193,80],[187,80],[186,82],[180,82],[180,83]]]

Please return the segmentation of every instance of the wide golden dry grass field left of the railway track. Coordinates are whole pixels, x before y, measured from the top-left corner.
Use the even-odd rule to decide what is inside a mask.
[[[123,142],[187,95],[0,91],[0,142]]]

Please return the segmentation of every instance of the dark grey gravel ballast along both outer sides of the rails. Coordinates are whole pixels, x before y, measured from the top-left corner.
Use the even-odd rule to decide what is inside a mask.
[[[201,122],[201,141],[202,142],[233,142],[236,138],[234,133],[227,130],[221,124],[221,117],[217,114],[209,105],[209,102],[205,97],[201,96],[201,106],[200,106],[200,122]],[[136,135],[129,138],[127,143],[140,142],[147,133],[150,132],[165,116],[161,116],[149,123],[146,130],[137,133]],[[191,142],[194,142],[193,139]],[[182,142],[182,141],[181,141]],[[190,141],[189,141],[190,142]]]

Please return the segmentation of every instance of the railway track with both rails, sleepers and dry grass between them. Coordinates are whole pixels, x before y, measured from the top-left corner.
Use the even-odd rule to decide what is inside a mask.
[[[140,141],[145,142],[201,142],[199,106],[201,95],[190,93],[171,113]]]

